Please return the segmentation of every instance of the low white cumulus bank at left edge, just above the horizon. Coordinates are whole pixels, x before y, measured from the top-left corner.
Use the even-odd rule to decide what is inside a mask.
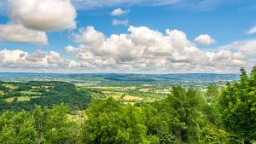
[[[73,60],[65,60],[55,51],[44,52],[37,50],[34,54],[15,49],[0,50],[0,67],[19,69],[41,69],[41,68],[72,68],[77,66]]]

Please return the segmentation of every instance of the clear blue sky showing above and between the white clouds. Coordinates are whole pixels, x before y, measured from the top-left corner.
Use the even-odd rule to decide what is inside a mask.
[[[16,15],[19,20],[16,20],[17,18],[15,16],[11,16],[10,14],[7,14],[6,11],[12,11],[15,6],[12,6],[13,3],[19,2],[19,1],[25,1],[25,0],[10,0],[10,3],[7,2],[1,2],[3,5],[3,9],[0,16],[0,24],[2,26],[13,24],[13,23],[19,23],[19,25],[24,25],[26,28],[32,28],[33,30],[38,31],[38,29],[35,29],[34,27],[26,26],[26,21],[22,21],[21,18],[19,18],[20,15]],[[33,0],[37,2],[38,0]],[[44,0],[47,1],[47,0]],[[58,1],[58,0],[55,0]],[[67,0],[68,1],[68,0]],[[68,3],[68,2],[67,2]],[[43,3],[44,4],[44,3]],[[5,5],[5,6],[4,6]],[[6,5],[11,5],[6,7]],[[67,53],[67,46],[72,46],[74,49],[89,49],[88,42],[77,42],[74,40],[73,36],[81,36],[83,35],[83,32],[85,32],[85,29],[87,26],[93,26],[94,30],[96,32],[100,32],[104,34],[106,38],[110,37],[113,34],[119,35],[119,34],[129,34],[127,32],[127,29],[130,26],[134,27],[141,27],[145,26],[149,30],[152,30],[154,32],[160,32],[165,34],[166,29],[170,30],[178,30],[180,32],[184,32],[187,36],[187,39],[191,43],[195,43],[194,39],[195,37],[198,37],[201,34],[207,34],[212,39],[214,39],[215,43],[211,44],[202,44],[202,43],[195,43],[197,49],[207,51],[216,51],[218,53],[220,51],[220,47],[224,47],[225,50],[230,50],[231,52],[241,52],[241,51],[248,51],[249,50],[256,50],[256,45],[253,45],[254,39],[256,38],[256,32],[251,32],[248,34],[248,31],[250,31],[253,26],[256,26],[256,2],[253,0],[224,0],[224,1],[218,1],[218,0],[195,0],[195,1],[187,1],[187,0],[162,0],[162,1],[154,1],[154,0],[136,0],[133,3],[129,1],[90,1],[90,0],[74,0],[73,3],[71,3],[72,7],[76,11],[76,16],[74,18],[74,21],[76,23],[75,27],[65,27],[58,29],[57,31],[54,30],[39,30],[40,32],[45,32],[48,37],[48,44],[38,44],[38,43],[20,43],[18,40],[12,40],[10,38],[7,38],[6,36],[1,36],[0,39],[2,41],[0,42],[0,50],[15,50],[20,49],[23,52],[27,52],[28,55],[33,55],[37,53],[38,49],[41,51],[44,51],[45,53],[48,53],[49,51],[55,51],[56,53],[61,55],[61,59],[68,59],[68,60],[75,60],[76,62],[79,62],[81,58],[79,58],[77,55],[71,55],[70,53]],[[24,6],[26,7],[26,6]],[[50,9],[50,8],[49,8]],[[122,9],[126,11],[126,14],[120,14],[118,16],[113,16],[111,13],[114,9]],[[15,10],[13,10],[15,11]],[[17,12],[16,12],[17,13]],[[23,15],[21,15],[23,16]],[[26,16],[26,15],[25,15]],[[39,15],[40,16],[40,15]],[[65,17],[65,15],[63,15]],[[15,18],[14,18],[15,17]],[[119,21],[129,21],[129,24],[120,24],[117,26],[113,26],[113,20],[119,20]],[[17,22],[18,21],[18,22]],[[84,28],[83,32],[81,29]],[[1,32],[1,29],[0,29]],[[232,43],[238,43],[238,42],[248,42],[250,48],[237,48],[236,46],[231,46]],[[85,45],[83,48],[80,48],[81,45]],[[243,45],[248,45],[247,43],[241,43]],[[243,46],[239,44],[239,46]],[[192,44],[193,45],[193,44]],[[233,44],[234,45],[234,44]],[[97,48],[93,48],[97,49]],[[94,51],[94,50],[90,51]],[[243,49],[243,50],[242,50]],[[10,51],[10,53],[12,53]],[[96,57],[100,57],[99,55],[93,54]],[[212,54],[213,55],[213,54]],[[214,54],[217,55],[217,54]],[[107,56],[107,55],[105,55]],[[111,56],[111,55],[110,55]],[[255,61],[252,59],[252,55],[246,55],[242,54],[242,56],[247,57],[243,58],[241,60],[240,65],[236,64],[227,64],[224,66],[230,66],[228,69],[224,70],[224,72],[236,72],[236,69],[240,66],[253,66],[255,64]],[[256,55],[255,55],[256,56]],[[0,55],[1,57],[1,55]],[[109,57],[109,55],[108,55]],[[118,56],[113,56],[118,57]],[[167,55],[167,57],[172,57],[172,55]],[[235,56],[236,57],[236,56]],[[154,57],[155,59],[158,59],[158,56]],[[6,58],[7,59],[7,58]],[[106,58],[101,59],[105,60]],[[161,59],[161,58],[160,58]],[[166,59],[166,58],[165,58]],[[240,59],[239,59],[240,60]],[[119,61],[119,60],[116,60]],[[186,60],[184,60],[186,61]],[[236,61],[236,60],[234,60]],[[1,62],[1,60],[0,60]],[[29,62],[29,61],[28,61]],[[86,61],[85,61],[86,62]],[[137,60],[134,60],[133,62],[138,62]],[[214,63],[214,61],[212,61]],[[244,62],[244,63],[242,63]],[[3,63],[3,61],[2,61]],[[119,63],[119,62],[118,62]],[[143,63],[140,61],[140,63]],[[156,62],[158,63],[158,62]],[[165,62],[166,63],[166,62]],[[218,61],[216,62],[218,63]],[[172,61],[172,64],[173,61]],[[32,65],[36,65],[33,64]],[[90,72],[91,69],[95,69],[94,66],[80,66],[72,68],[73,71],[76,69],[82,69],[83,72]],[[89,64],[88,64],[89,65]],[[90,65],[96,65],[96,64],[90,64]],[[183,62],[184,65],[184,62]],[[193,72],[207,72],[207,70],[199,70],[199,68],[203,67],[201,64],[200,66],[189,66],[190,68],[193,68]],[[205,65],[205,64],[204,64]],[[1,65],[0,65],[1,66]],[[168,64],[169,66],[169,64]],[[13,71],[14,67],[8,67],[8,66],[2,66],[2,71]],[[38,67],[35,68],[35,66],[17,66],[19,67],[19,71],[32,71],[37,72],[41,71],[38,70]],[[111,72],[119,72],[123,71],[123,66],[118,66],[116,69],[113,68],[114,66],[111,66],[110,64],[107,66],[99,66],[96,67],[97,71],[99,72],[109,72],[111,69]],[[131,66],[128,66],[131,67]],[[183,67],[183,66],[181,66]],[[40,67],[43,68],[45,72],[49,71],[52,72],[55,70],[55,67],[52,66],[43,66]],[[145,68],[145,67],[144,67]],[[171,69],[179,68],[179,66],[171,66]],[[61,67],[58,67],[59,71],[61,70]],[[210,68],[211,71],[214,72],[222,72],[220,70],[220,67],[212,66]],[[0,69],[1,70],[1,69]],[[166,72],[166,70],[155,70],[154,67],[147,67],[145,69],[138,66],[132,67],[131,72],[147,72],[148,70],[152,72]],[[130,70],[128,71],[130,72]],[[168,71],[169,72],[169,71]],[[171,72],[176,72],[171,71]],[[182,69],[181,71],[177,72],[187,72],[186,69]]]

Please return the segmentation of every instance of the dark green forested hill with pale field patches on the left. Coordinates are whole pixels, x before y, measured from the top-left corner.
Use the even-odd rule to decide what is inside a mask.
[[[64,103],[74,109],[84,109],[90,102],[92,93],[88,89],[79,89],[65,82],[13,83],[0,81],[0,111],[27,110],[35,105],[52,107]]]

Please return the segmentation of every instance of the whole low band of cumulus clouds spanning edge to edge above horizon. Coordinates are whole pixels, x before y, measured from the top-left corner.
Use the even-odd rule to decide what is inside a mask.
[[[64,70],[65,72],[237,72],[255,65],[256,40],[227,44],[216,51],[200,49],[185,32],[130,26],[122,34],[104,35],[88,26],[74,34],[78,46],[69,45],[61,57],[55,51],[0,50],[0,68]],[[81,71],[80,71],[81,70]],[[48,71],[48,72],[49,72]]]

